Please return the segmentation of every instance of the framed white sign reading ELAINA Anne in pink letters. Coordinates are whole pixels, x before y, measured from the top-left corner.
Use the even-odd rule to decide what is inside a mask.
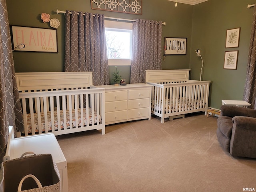
[[[34,51],[58,53],[57,30],[11,25],[12,49],[24,44],[22,49],[14,51]]]

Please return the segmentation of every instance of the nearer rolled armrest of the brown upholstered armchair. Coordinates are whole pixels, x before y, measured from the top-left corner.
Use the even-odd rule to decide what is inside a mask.
[[[232,118],[232,123],[236,128],[256,131],[256,118],[235,116]]]

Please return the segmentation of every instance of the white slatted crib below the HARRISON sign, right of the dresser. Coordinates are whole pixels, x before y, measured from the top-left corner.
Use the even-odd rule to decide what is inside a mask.
[[[152,85],[151,113],[170,120],[208,108],[210,81],[189,80],[190,69],[146,70],[146,83]]]

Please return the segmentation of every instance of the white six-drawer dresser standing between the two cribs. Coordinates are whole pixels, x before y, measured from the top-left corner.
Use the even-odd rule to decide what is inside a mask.
[[[140,119],[150,120],[151,85],[135,83],[97,87],[105,88],[106,125]]]

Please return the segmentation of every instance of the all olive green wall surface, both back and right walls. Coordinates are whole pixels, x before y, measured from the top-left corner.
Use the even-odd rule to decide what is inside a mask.
[[[201,59],[194,50],[200,49],[204,60],[203,80],[211,80],[209,106],[220,108],[222,99],[242,99],[253,0],[209,0],[195,6],[167,0],[143,0],[142,15],[91,10],[90,0],[54,0],[51,2],[31,0],[6,0],[9,22],[12,25],[50,28],[40,19],[42,12],[57,18],[61,25],[58,33],[58,53],[14,52],[16,72],[56,72],[64,70],[64,14],[58,10],[76,10],[104,14],[108,17],[148,19],[166,22],[164,37],[187,38],[187,54],[166,56],[162,69],[190,68],[190,78],[199,80]],[[226,30],[241,27],[238,48],[225,48]],[[237,70],[224,70],[224,54],[227,50],[239,50]],[[110,66],[110,79],[114,66]],[[130,81],[130,66],[118,66],[120,74]]]

